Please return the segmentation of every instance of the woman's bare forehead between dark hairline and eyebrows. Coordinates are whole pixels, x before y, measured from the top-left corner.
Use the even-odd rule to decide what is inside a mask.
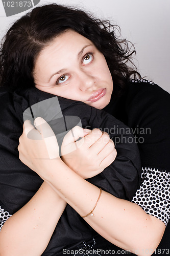
[[[35,61],[34,77],[43,78],[46,73],[70,67],[71,61],[76,60],[79,52],[88,45],[93,44],[86,37],[72,30],[65,31],[41,50]]]

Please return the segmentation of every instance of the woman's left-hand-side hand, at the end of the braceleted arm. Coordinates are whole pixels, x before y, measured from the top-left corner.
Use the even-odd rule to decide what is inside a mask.
[[[19,159],[43,177],[44,166],[49,164],[50,159],[59,158],[59,147],[56,136],[50,125],[37,117],[34,122],[30,120],[23,124],[23,133],[19,138]]]

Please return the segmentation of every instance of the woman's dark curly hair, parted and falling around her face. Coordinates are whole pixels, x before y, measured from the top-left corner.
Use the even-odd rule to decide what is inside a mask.
[[[67,29],[72,29],[93,42],[107,61],[114,83],[114,94],[122,92],[130,77],[140,74],[133,65],[127,40],[115,36],[117,26],[101,21],[82,10],[57,4],[34,8],[18,19],[8,30],[0,53],[0,83],[12,90],[34,87],[34,65],[40,51]],[[132,65],[128,66],[128,61]]]

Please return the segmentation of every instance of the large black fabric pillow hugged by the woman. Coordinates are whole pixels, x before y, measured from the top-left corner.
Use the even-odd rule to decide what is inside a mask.
[[[0,128],[0,205],[10,214],[14,214],[25,205],[36,193],[42,184],[41,178],[18,159],[18,139],[22,134],[23,112],[35,103],[54,97],[35,88],[26,91],[10,93],[1,89],[0,111],[2,125]],[[107,167],[102,174],[88,179],[98,187],[112,195],[132,200],[136,189],[140,185],[141,166],[136,143],[127,143],[132,133],[122,134],[120,128],[128,127],[104,111],[96,110],[82,102],[58,97],[63,116],[78,116],[83,127],[105,127],[112,131],[113,140],[120,138],[116,143],[116,160]],[[47,117],[48,112],[45,111]],[[36,117],[36,113],[33,113]],[[38,113],[37,113],[38,115]],[[50,218],[50,212],[49,212]],[[76,246],[80,241],[89,239],[96,232],[81,218],[69,205],[63,212],[50,243],[42,255],[55,255],[65,246]]]

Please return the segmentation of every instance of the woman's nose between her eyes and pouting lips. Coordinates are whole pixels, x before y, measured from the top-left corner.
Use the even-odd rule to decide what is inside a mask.
[[[79,79],[79,88],[81,91],[86,91],[86,90],[93,90],[93,88],[95,87],[95,82],[96,79],[93,75],[87,73],[87,72],[80,72],[79,74],[80,79]]]

